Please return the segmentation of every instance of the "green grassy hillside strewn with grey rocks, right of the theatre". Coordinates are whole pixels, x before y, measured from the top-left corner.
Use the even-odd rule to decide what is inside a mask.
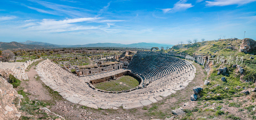
[[[239,52],[241,43],[241,39],[220,39],[175,45],[171,49],[163,51],[185,53],[191,56],[214,55],[212,59],[215,61],[210,62],[211,70],[205,79],[210,81],[210,84],[204,85],[204,90],[193,107],[185,107],[186,115],[182,117],[183,120],[256,119],[256,111],[253,109],[256,107],[256,93],[251,91],[254,89],[256,81],[256,55],[253,55],[255,53]],[[233,67],[236,65],[236,57],[239,58],[238,65],[244,68],[244,73],[240,73],[239,68]],[[220,62],[220,58],[225,62]],[[218,69],[223,67],[228,68],[227,74],[217,75]],[[221,77],[225,77],[227,81],[221,81]],[[243,90],[249,90],[250,94],[241,93]],[[201,116],[205,117],[201,118]]]

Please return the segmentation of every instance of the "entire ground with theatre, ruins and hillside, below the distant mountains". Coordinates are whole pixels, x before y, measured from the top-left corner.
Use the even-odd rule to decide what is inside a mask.
[[[248,38],[9,50],[16,56],[0,63],[0,119],[256,119],[255,50]]]

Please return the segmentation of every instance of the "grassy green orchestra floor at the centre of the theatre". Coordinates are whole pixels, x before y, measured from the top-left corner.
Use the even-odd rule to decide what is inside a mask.
[[[116,80],[104,81],[94,84],[98,89],[107,91],[122,91],[135,88],[139,85],[139,81],[132,76],[124,75],[118,77]]]

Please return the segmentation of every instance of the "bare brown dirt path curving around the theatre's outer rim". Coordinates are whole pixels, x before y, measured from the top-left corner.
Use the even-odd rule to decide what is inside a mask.
[[[196,66],[196,77],[185,88],[177,91],[177,93],[163,98],[161,101],[153,103],[146,107],[135,109],[92,109],[78,104],[71,103],[63,99],[58,93],[56,94],[48,88],[42,81],[35,78],[37,75],[35,66],[28,68],[28,81],[22,81],[19,88],[23,88],[25,92],[30,93],[28,97],[31,100],[40,100],[52,102],[53,105],[48,106],[52,112],[65,117],[68,120],[146,120],[146,119],[164,119],[171,117],[172,109],[181,107],[188,102],[190,95],[193,94],[192,88],[203,84],[206,79],[205,70],[198,64]]]

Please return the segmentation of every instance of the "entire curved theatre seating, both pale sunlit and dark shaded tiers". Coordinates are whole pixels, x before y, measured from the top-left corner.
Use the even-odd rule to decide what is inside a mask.
[[[64,99],[95,109],[147,106],[188,86],[196,73],[196,67],[188,61],[145,53],[137,53],[127,69],[141,76],[140,85],[143,88],[125,93],[101,92],[89,86],[88,81],[94,79],[93,75],[78,77],[50,60],[44,60],[36,66],[45,85],[59,92]]]

